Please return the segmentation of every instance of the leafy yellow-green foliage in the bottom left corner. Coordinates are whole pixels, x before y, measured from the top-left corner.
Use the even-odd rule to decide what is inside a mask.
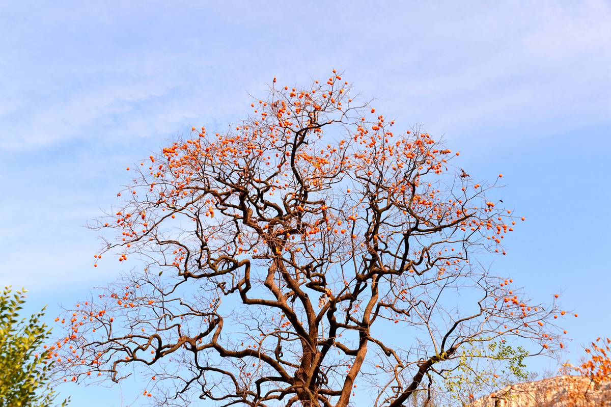
[[[40,321],[44,308],[20,318],[25,293],[4,287],[0,295],[0,407],[46,407],[56,398],[49,382],[51,363],[45,360],[48,351],[37,353],[51,329]]]

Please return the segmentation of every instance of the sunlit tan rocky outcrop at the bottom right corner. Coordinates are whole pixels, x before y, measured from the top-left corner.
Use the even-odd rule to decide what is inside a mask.
[[[513,384],[476,400],[473,407],[611,407],[611,383],[557,376]]]

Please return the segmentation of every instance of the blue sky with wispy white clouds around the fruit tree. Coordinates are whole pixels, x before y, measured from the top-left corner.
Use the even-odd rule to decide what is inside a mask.
[[[471,175],[503,173],[528,219],[492,268],[535,298],[562,293],[580,314],[574,356],[611,336],[609,21],[608,1],[0,1],[0,283],[51,319],[113,281],[126,270],[92,268],[83,226],[117,203],[125,166],[192,125],[224,130],[274,76],[337,68],[386,117],[444,136]]]

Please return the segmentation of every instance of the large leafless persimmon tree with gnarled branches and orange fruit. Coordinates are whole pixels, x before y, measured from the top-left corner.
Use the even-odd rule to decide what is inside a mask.
[[[62,320],[66,380],[136,372],[166,405],[397,407],[465,358],[502,362],[489,343],[558,348],[555,300],[478,264],[519,220],[488,197],[498,179],[395,130],[335,71],[274,78],[251,108],[128,167],[94,257],[138,266]]]

